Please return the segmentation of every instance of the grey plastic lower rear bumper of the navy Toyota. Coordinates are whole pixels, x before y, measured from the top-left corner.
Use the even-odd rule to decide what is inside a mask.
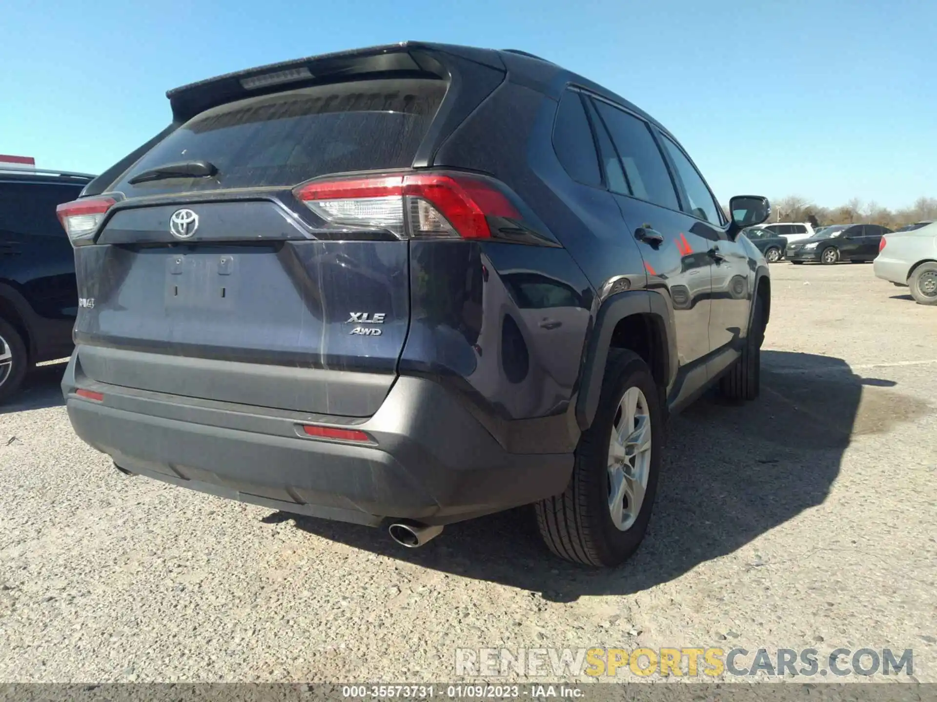
[[[89,388],[103,402],[83,399]],[[399,377],[365,419],[302,415],[96,383],[77,353],[62,382],[78,435],[127,472],[325,519],[445,524],[565,490],[572,454],[506,451],[438,384]],[[364,431],[313,439],[303,423]]]

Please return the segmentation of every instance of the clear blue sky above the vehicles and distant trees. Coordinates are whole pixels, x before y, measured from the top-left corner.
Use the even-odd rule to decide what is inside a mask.
[[[404,39],[531,51],[671,129],[717,196],[937,197],[934,0],[0,2],[0,154],[99,172],[167,89]]]

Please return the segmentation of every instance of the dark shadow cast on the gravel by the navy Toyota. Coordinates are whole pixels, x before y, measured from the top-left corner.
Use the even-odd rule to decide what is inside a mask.
[[[758,401],[733,404],[712,392],[674,418],[647,538],[614,570],[553,557],[530,507],[453,524],[415,550],[395,545],[384,530],[272,517],[296,519],[306,532],[355,548],[553,601],[647,590],[822,504],[857,431],[886,431],[928,411],[900,390],[882,388],[891,381],[862,378],[839,358],[779,351],[762,358]]]

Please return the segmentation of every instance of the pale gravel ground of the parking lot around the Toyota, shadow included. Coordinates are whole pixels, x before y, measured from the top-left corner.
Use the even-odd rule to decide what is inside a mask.
[[[526,509],[427,547],[126,477],[50,366],[0,414],[0,680],[453,680],[456,647],[914,650],[937,681],[937,309],[772,268],[758,402],[674,421],[625,567]],[[853,678],[852,680],[855,680]]]

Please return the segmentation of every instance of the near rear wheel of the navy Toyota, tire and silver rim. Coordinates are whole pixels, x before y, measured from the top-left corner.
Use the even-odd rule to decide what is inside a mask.
[[[586,565],[623,563],[647,532],[663,444],[660,392],[647,363],[612,349],[592,426],[576,446],[570,484],[536,505],[543,541]]]

